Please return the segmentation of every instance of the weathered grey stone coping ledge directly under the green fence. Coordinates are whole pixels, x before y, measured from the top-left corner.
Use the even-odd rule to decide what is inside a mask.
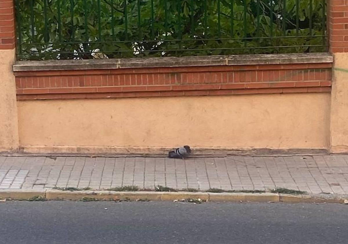
[[[88,60],[50,60],[18,61],[13,71],[47,71],[47,70],[88,70],[88,69],[125,69],[156,67],[192,67],[192,66],[232,66],[258,64],[298,64],[298,63],[332,63],[329,53],[295,53],[295,54],[253,54],[253,55],[219,55],[164,57],[143,59],[88,59]]]

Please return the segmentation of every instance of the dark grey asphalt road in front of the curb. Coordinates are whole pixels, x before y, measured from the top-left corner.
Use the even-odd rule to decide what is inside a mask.
[[[0,243],[347,244],[348,205],[11,201]]]

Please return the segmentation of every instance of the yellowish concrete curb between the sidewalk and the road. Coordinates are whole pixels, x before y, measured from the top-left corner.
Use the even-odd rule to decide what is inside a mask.
[[[155,192],[155,191],[62,191],[6,189],[0,190],[0,199],[29,200],[43,197],[46,200],[73,200],[82,198],[95,200],[149,200],[174,201],[180,199],[197,199],[212,202],[256,202],[256,203],[343,203],[344,196],[288,195],[278,193],[211,193],[211,192]],[[347,197],[346,197],[347,198]]]

